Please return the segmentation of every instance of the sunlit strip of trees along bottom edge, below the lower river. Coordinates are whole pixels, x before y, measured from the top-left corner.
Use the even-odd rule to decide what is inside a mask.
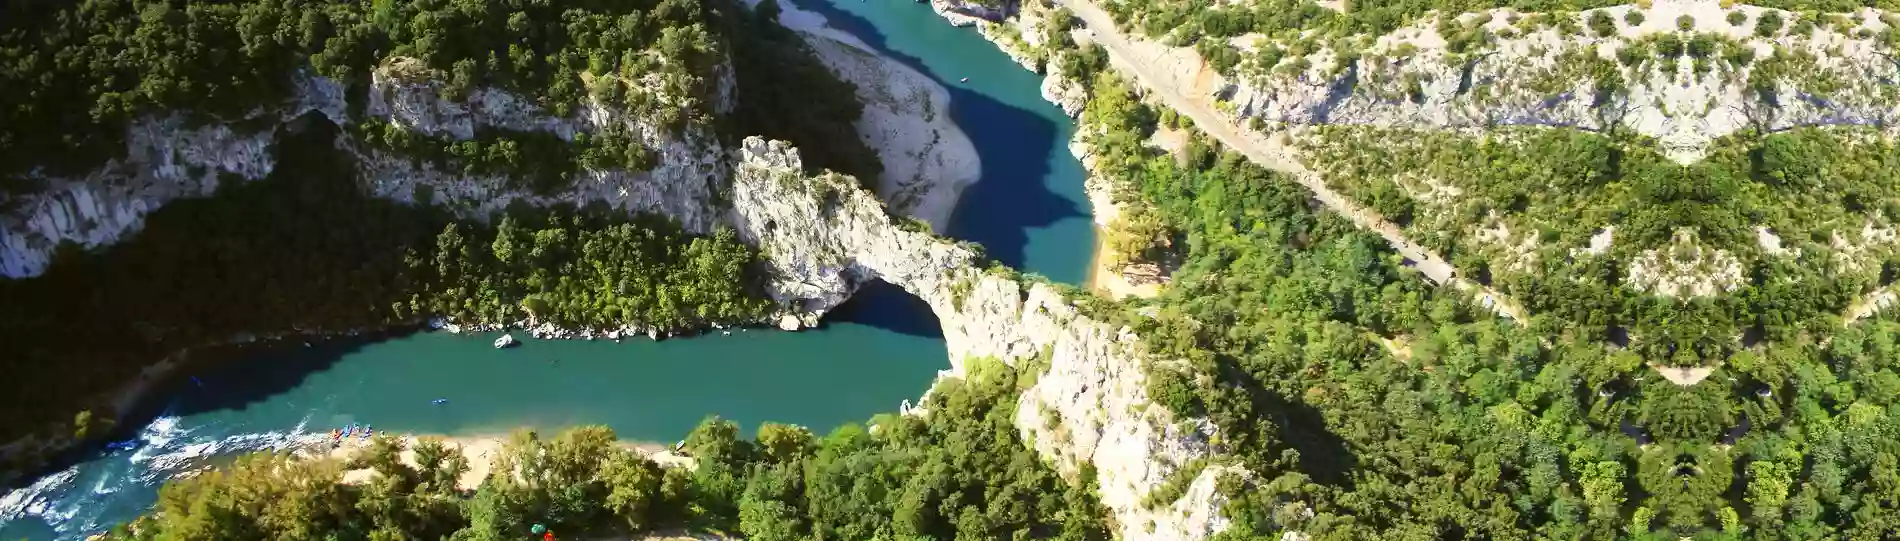
[[[173,482],[154,514],[108,539],[528,539],[532,524],[560,539],[1110,539],[1091,475],[1064,480],[1016,438],[1018,391],[992,361],[937,387],[927,418],[880,416],[872,429],[819,438],[768,423],[743,440],[707,420],[686,438],[694,469],[648,461],[604,427],[517,433],[473,492],[456,490],[466,457],[439,440],[414,444],[414,463],[390,438],[348,463],[253,456]],[[376,476],[340,484],[344,469]]]

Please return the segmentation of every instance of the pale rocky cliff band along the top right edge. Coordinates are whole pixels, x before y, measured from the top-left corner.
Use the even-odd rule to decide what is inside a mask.
[[[1615,34],[1590,34],[1586,21],[1596,11],[1617,21]],[[1640,25],[1624,23],[1630,11],[1644,15]],[[1163,72],[1222,97],[1237,118],[1290,125],[1626,127],[1693,163],[1714,139],[1742,129],[1900,120],[1892,99],[1900,68],[1872,38],[1887,30],[1879,11],[1843,19],[1849,27],[1813,25],[1769,38],[1752,25],[1727,23],[1729,13],[1758,21],[1767,11],[1797,19],[1714,0],[1659,0],[1649,9],[1571,13],[1585,30],[1560,32],[1524,25],[1526,13],[1493,9],[1455,17],[1450,28],[1488,36],[1461,53],[1440,27],[1417,23],[1378,36],[1353,57],[1334,49],[1254,57],[1231,82],[1205,70],[1193,51],[1146,46]],[[1691,30],[1680,30],[1682,17],[1693,21]],[[1233,46],[1254,55],[1264,42],[1243,36]]]

